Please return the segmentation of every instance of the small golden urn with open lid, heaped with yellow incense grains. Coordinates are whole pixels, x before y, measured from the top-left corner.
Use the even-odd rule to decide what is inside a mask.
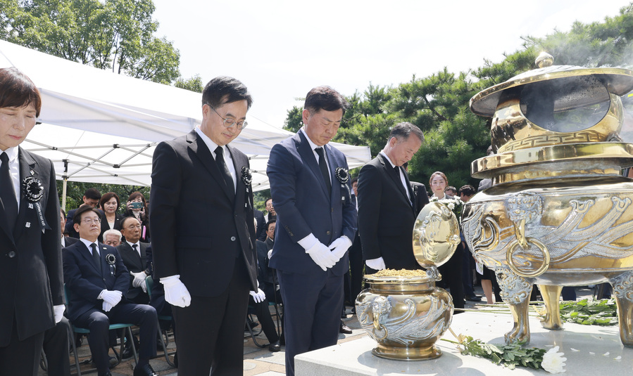
[[[437,266],[448,261],[460,242],[458,221],[448,207],[432,202],[418,214],[413,228],[413,251],[427,271],[380,271],[366,275],[356,298],[358,321],[378,342],[372,354],[402,361],[441,356],[434,346],[451,325],[453,301]]]

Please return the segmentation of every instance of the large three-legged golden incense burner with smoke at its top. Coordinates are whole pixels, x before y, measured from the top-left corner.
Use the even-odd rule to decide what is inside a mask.
[[[623,143],[620,96],[633,72],[552,65],[477,93],[470,109],[492,117],[496,154],[472,162],[472,176],[493,185],[465,205],[462,231],[475,258],[494,270],[514,328],[506,342],[529,342],[534,283],[547,308],[542,324],[562,327],[565,285],[608,282],[620,339],[633,346],[633,144]]]

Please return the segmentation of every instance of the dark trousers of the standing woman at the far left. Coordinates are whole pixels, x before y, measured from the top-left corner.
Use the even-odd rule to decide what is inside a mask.
[[[0,347],[0,376],[37,376],[43,342],[44,332],[20,341],[18,323],[13,318],[11,342],[6,347]]]

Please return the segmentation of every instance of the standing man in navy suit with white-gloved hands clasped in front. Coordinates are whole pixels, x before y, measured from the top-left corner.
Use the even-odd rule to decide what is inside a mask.
[[[303,128],[270,150],[268,179],[277,212],[270,267],[284,302],[286,374],[294,356],[337,343],[347,249],[356,234],[347,161],[327,143],[337,134],[345,98],[329,86],[312,89]]]

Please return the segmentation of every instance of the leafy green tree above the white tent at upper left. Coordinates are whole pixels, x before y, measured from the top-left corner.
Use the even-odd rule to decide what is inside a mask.
[[[0,0],[0,9],[0,39],[162,84],[180,76],[180,53],[154,36],[151,0]]]

